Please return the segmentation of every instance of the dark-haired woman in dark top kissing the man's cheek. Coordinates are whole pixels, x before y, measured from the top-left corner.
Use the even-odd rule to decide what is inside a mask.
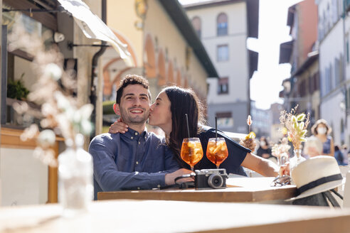
[[[164,131],[167,145],[184,168],[189,169],[189,165],[181,160],[180,151],[182,141],[189,137],[189,133],[190,137],[198,137],[201,140],[204,153],[195,169],[216,168],[205,156],[208,139],[215,138],[216,133],[215,129],[204,126],[202,111],[203,107],[196,94],[192,90],[180,87],[164,88],[150,107],[149,124],[159,126]],[[185,114],[189,116],[189,133]],[[110,133],[124,131],[127,131],[127,126],[122,122],[115,122],[110,127]],[[278,168],[274,163],[251,154],[248,148],[240,146],[221,131],[218,131],[218,137],[225,138],[228,146],[228,158],[220,166],[220,168],[226,168],[227,173],[246,175],[241,167],[244,166],[265,176],[277,175]]]

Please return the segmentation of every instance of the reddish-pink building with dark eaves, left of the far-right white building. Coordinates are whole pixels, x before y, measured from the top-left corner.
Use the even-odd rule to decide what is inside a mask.
[[[320,118],[317,18],[314,0],[290,6],[287,26],[292,40],[280,45],[280,63],[292,66],[290,78],[282,83],[280,97],[287,111],[298,105],[298,112],[309,113],[310,126]]]

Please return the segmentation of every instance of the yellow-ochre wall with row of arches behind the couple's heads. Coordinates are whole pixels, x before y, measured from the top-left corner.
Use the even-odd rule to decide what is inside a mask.
[[[159,1],[147,1],[144,20],[137,16],[135,1],[107,1],[107,23],[135,50],[142,75],[149,79],[152,98],[166,85],[191,87],[206,101],[208,77],[191,46]],[[135,23],[142,22],[137,28]],[[132,70],[125,71],[120,78]]]

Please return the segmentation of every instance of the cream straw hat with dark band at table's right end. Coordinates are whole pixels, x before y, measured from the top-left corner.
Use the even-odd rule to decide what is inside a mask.
[[[334,157],[316,156],[299,163],[292,170],[292,180],[299,195],[290,200],[295,200],[332,190],[341,185],[343,177]]]

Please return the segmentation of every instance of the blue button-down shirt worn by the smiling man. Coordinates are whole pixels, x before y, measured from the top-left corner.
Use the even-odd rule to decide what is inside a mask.
[[[179,169],[174,154],[161,138],[129,129],[125,134],[100,134],[89,147],[97,192],[160,188],[165,174]]]

